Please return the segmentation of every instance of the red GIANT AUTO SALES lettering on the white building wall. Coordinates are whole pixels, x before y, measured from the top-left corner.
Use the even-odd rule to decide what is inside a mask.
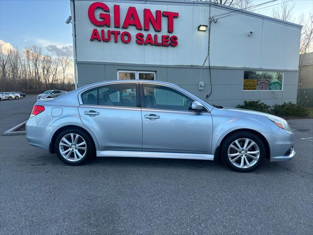
[[[96,9],[100,8],[103,12],[96,14]],[[113,17],[111,21],[110,8],[103,2],[93,2],[88,8],[89,21],[97,26],[93,28],[90,36],[90,41],[125,43],[128,44],[132,40],[135,40],[138,45],[151,45],[160,47],[176,47],[178,46],[178,37],[172,35],[174,32],[175,19],[179,17],[178,12],[160,11],[156,10],[155,14],[150,9],[143,10],[143,19],[140,20],[135,7],[128,7],[126,16],[124,19],[120,17],[120,5],[113,6]],[[167,34],[144,34],[145,31],[150,30],[152,25],[155,32],[162,32],[162,21],[167,21]],[[99,28],[99,27],[111,27],[116,30]],[[119,28],[127,29],[129,27],[135,27],[139,32],[132,35],[125,30],[118,30]],[[164,31],[164,30],[163,30]]]

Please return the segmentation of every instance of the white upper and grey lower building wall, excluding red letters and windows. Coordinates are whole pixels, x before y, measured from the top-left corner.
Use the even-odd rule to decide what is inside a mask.
[[[214,16],[232,11],[233,8],[183,0],[104,2],[109,6],[111,14],[113,5],[120,5],[121,22],[129,6],[136,7],[141,22],[144,8],[149,8],[152,12],[179,12],[179,18],[174,20],[172,33],[178,36],[179,45],[137,45],[134,38],[129,44],[90,41],[93,28],[116,28],[113,25],[98,27],[91,24],[87,11],[92,1],[75,0],[78,86],[117,79],[118,70],[156,71],[156,80],[176,83],[208,102],[223,106],[236,106],[245,99],[262,99],[268,104],[296,102],[301,31],[299,25],[247,12],[212,23],[212,94],[206,99],[205,96],[211,89],[209,61],[205,60],[208,53],[208,30],[200,32],[197,28],[199,24],[208,24],[209,11]],[[140,32],[134,26],[117,30],[129,31],[132,37]],[[254,33],[248,37],[250,30]],[[155,32],[152,27],[149,31],[141,32],[145,35],[168,34],[167,21],[162,20],[161,32]],[[284,71],[283,91],[243,91],[244,70]],[[204,81],[203,91],[198,90],[199,81]]]

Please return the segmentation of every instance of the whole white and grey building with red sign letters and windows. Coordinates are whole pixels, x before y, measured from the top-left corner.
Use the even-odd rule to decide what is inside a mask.
[[[78,87],[155,79],[223,106],[296,102],[298,24],[206,1],[70,3]]]

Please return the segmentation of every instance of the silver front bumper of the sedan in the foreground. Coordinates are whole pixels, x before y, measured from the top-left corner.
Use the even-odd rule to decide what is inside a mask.
[[[281,128],[276,133],[262,133],[270,148],[270,162],[291,160],[294,157],[294,133]]]

